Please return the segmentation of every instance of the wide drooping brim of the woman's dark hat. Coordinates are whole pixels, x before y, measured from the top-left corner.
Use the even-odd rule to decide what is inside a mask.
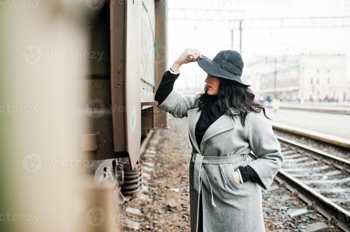
[[[217,65],[211,59],[205,57],[204,55],[202,55],[202,59],[199,57],[197,58],[197,63],[206,73],[212,76],[237,81],[239,84],[244,85],[245,87],[251,86],[250,84],[244,84],[238,75],[235,75],[229,72],[228,70],[224,69],[223,67]]]

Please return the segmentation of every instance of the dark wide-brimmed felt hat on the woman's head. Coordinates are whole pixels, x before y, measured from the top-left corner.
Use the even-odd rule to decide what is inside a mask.
[[[197,62],[206,73],[212,76],[237,81],[246,87],[251,86],[250,84],[244,84],[240,78],[244,63],[237,51],[221,51],[212,60],[202,55],[202,59],[198,57]]]

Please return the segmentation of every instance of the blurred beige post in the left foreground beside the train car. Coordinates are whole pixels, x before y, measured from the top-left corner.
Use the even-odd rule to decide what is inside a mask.
[[[1,231],[112,231],[111,191],[86,189],[79,144],[84,89],[74,83],[89,72],[88,10],[84,1],[0,7]],[[102,226],[89,207],[104,209]]]

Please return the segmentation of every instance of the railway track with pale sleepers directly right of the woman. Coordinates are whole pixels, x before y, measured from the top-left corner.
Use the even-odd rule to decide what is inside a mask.
[[[276,136],[284,162],[275,180],[350,231],[350,161]],[[255,158],[255,157],[253,157]]]

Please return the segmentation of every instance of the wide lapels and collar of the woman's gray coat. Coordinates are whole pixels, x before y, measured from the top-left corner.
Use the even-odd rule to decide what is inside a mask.
[[[230,109],[233,114],[239,115],[239,111],[235,107],[230,107]],[[198,143],[196,141],[195,129],[196,129],[196,124],[201,116],[202,110],[199,112],[197,112],[197,110],[198,110],[198,107],[187,111],[188,132],[189,132],[192,146],[195,148],[197,153],[202,154],[200,147],[203,142],[207,141],[208,139],[210,139],[211,137],[217,134],[233,129],[235,125],[233,124],[233,120],[230,115],[223,114],[220,118],[215,120],[215,122],[213,122],[209,126],[209,128],[205,131],[200,147],[198,147]]]

